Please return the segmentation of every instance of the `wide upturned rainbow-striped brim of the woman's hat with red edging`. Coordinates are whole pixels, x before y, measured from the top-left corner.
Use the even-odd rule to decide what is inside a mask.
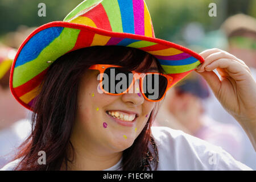
[[[11,93],[21,105],[32,110],[36,91],[53,61],[76,49],[113,45],[138,48],[155,56],[173,77],[171,86],[204,62],[196,52],[166,40],[77,23],[51,22],[36,28],[19,47],[11,68]]]

